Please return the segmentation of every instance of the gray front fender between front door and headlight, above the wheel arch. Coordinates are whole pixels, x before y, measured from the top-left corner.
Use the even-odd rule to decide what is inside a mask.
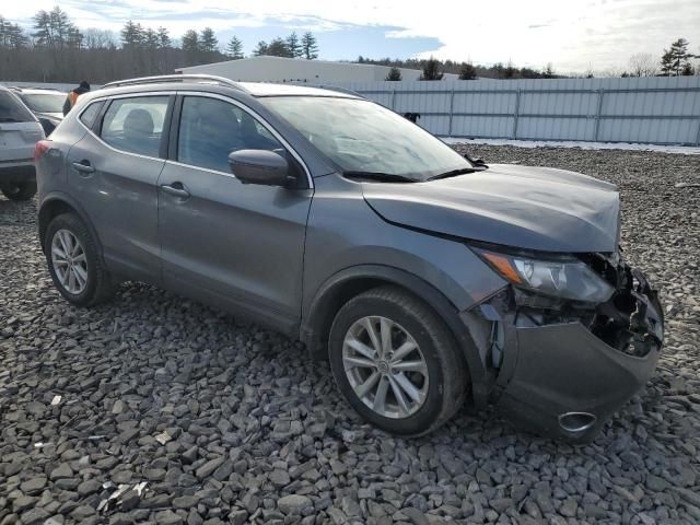
[[[418,276],[458,310],[469,308],[505,284],[465,244],[382,220],[362,198],[362,185],[338,174],[316,179],[307,228],[303,312],[310,312],[327,279],[359,265],[382,265]]]

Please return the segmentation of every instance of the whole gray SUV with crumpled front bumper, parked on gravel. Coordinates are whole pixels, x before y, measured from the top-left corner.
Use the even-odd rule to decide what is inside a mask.
[[[59,292],[145,281],[301,339],[368,421],[463,401],[587,440],[653,373],[657,294],[615,186],[459,155],[350,93],[200,75],[83,95],[37,144]]]

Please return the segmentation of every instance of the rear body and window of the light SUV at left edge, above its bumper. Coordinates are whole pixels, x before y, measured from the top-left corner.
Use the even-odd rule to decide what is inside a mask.
[[[32,163],[42,126],[22,102],[0,90],[0,168]]]

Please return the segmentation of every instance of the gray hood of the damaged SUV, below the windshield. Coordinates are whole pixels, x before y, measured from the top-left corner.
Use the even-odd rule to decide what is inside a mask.
[[[363,183],[385,220],[465,240],[542,252],[615,252],[615,185],[551,167],[492,164],[425,183]]]

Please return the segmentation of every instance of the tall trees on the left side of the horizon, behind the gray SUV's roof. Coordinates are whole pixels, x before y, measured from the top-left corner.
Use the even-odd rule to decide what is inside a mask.
[[[316,37],[299,36],[258,43],[254,56],[273,55],[313,60]],[[236,36],[222,44],[211,27],[188,30],[173,38],[166,27],[147,27],[129,20],[118,35],[101,28],[79,28],[60,8],[40,10],[31,30],[0,15],[0,78],[35,82],[105,83],[113,80],[173,73],[176,68],[245,58]]]

